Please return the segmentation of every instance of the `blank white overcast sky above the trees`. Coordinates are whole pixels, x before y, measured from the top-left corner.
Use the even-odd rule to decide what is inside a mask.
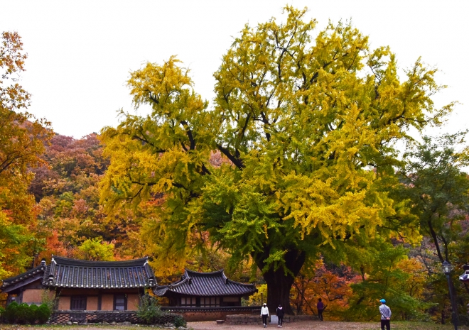
[[[469,1],[4,1],[0,31],[18,31],[28,53],[22,84],[31,112],[57,133],[80,138],[117,124],[116,111],[133,111],[125,82],[147,61],[178,55],[195,90],[212,100],[212,73],[245,23],[276,17],[285,4],[310,9],[318,30],[328,19],[352,18],[372,47],[389,45],[401,68],[421,56],[448,85],[434,99],[462,105],[444,131],[469,119]],[[139,110],[144,114],[144,110]],[[429,133],[438,134],[440,131]]]

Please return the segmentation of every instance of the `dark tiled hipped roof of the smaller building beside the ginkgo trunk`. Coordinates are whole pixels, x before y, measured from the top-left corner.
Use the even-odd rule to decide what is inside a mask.
[[[223,270],[211,273],[198,273],[185,270],[178,282],[160,285],[153,290],[160,297],[171,292],[188,296],[229,296],[252,295],[257,289],[252,284],[243,284],[229,280]]]

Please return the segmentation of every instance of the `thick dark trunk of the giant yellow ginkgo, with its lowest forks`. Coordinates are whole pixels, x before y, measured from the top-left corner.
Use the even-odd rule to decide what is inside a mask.
[[[264,260],[269,256],[269,247],[264,248],[264,253],[253,253],[252,256],[259,269],[262,270],[265,265]],[[275,314],[279,304],[284,307],[285,314],[293,314],[293,309],[290,305],[290,290],[296,275],[298,275],[301,267],[303,267],[305,258],[306,253],[304,251],[290,250],[285,254],[285,260],[286,267],[292,274],[285,274],[282,267],[274,270],[273,265],[263,274],[264,280],[267,283],[267,307],[269,307],[270,314]]]

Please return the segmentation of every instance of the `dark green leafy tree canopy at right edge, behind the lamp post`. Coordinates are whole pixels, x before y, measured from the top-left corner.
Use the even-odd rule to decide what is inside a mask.
[[[469,211],[469,180],[461,168],[469,165],[467,150],[456,150],[467,132],[423,137],[408,151],[399,172],[399,193],[412,202],[411,212],[431,237],[441,263],[450,260],[449,245],[457,241],[461,221]]]

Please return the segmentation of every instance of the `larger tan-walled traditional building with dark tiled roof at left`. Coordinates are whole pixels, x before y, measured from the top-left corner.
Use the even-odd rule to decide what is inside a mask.
[[[41,304],[45,290],[58,297],[59,311],[136,310],[145,288],[156,287],[148,259],[87,261],[53,256],[36,268],[7,278],[0,287],[13,300]]]

